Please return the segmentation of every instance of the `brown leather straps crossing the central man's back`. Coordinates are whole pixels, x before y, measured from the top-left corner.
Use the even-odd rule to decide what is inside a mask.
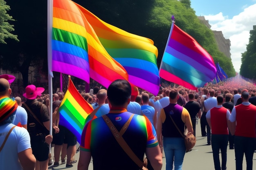
[[[131,117],[132,116],[134,116],[134,114],[132,114]],[[130,146],[128,146],[128,144],[126,143],[124,138],[121,136],[121,134],[118,132],[118,130],[116,129],[116,127],[114,126],[112,121],[108,118],[108,116],[103,115],[102,117],[105,120],[106,124],[108,125],[108,128],[112,132],[113,136],[117,140],[118,144],[121,146],[121,148],[123,148],[123,150],[126,152],[126,154],[132,159],[132,161],[134,161],[137,164],[137,166],[139,166],[139,168],[143,168],[143,162],[141,160],[139,160],[137,155],[135,155],[135,153],[131,150]],[[128,125],[130,124],[131,117],[128,119],[126,124],[127,123],[128,123]],[[123,128],[126,126],[126,124],[123,126]]]

